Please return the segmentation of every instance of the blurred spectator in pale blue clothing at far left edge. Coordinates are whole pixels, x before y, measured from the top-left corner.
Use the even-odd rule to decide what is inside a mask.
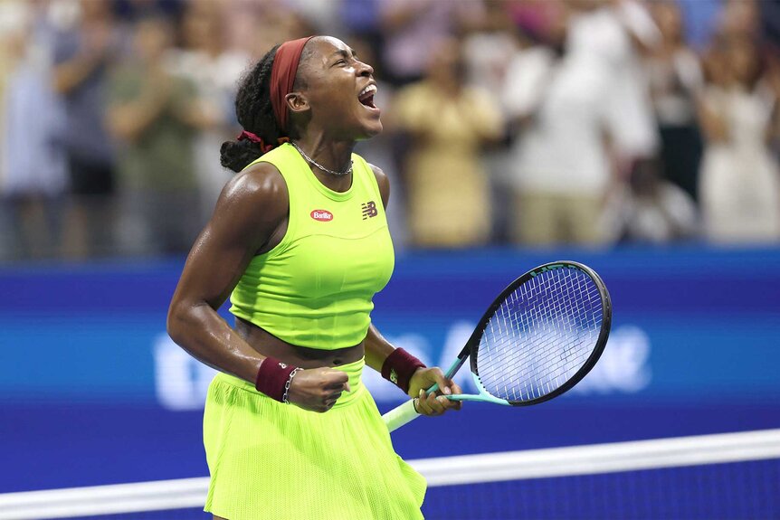
[[[19,5],[5,33],[0,99],[0,204],[9,237],[6,259],[59,254],[67,164],[62,104],[52,89],[51,27],[42,5]],[[4,14],[9,14],[5,11]]]

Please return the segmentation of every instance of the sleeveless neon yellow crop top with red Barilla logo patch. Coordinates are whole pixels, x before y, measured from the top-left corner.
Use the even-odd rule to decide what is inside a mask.
[[[363,341],[395,255],[376,176],[361,156],[352,161],[344,193],[320,183],[289,144],[254,161],[281,172],[290,219],[279,245],[254,257],[233,289],[234,316],[291,345],[333,350]]]

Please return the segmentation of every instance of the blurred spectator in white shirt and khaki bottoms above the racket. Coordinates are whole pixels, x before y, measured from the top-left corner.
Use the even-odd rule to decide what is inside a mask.
[[[503,101],[520,124],[512,168],[516,237],[529,245],[595,245],[617,160],[652,155],[655,124],[636,70],[634,41],[652,20],[633,3],[566,2],[547,46],[509,65]]]

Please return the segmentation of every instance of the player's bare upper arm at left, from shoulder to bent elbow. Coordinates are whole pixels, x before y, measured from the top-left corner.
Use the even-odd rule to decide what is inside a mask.
[[[287,185],[273,165],[259,163],[233,177],[187,257],[171,308],[222,306],[288,211]]]

